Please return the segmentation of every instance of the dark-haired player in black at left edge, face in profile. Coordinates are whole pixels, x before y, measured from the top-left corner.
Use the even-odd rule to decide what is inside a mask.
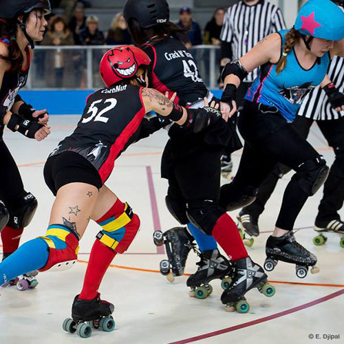
[[[17,164],[3,141],[5,126],[28,138],[41,141],[50,130],[46,110],[36,111],[19,96],[25,86],[32,61],[34,41],[42,41],[51,11],[49,1],[0,1],[0,232],[3,259],[19,247],[23,228],[37,208],[32,193],[24,190]],[[2,231],[1,231],[2,230]],[[36,287],[37,272],[8,282],[19,290]]]

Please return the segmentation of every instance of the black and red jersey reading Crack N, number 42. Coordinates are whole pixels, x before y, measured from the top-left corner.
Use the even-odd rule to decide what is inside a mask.
[[[177,92],[176,102],[191,107],[208,94],[195,59],[184,44],[172,37],[160,41],[151,39],[142,45],[151,58],[149,87],[170,96]]]

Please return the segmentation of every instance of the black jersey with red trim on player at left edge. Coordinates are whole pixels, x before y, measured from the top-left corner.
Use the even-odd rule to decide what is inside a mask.
[[[2,43],[8,44],[7,39],[0,40]],[[3,74],[3,80],[0,89],[0,105],[3,105],[8,110],[12,109],[15,98],[21,88],[23,88],[28,81],[28,74],[30,69],[30,48],[25,49],[27,57],[27,63],[25,69],[19,69],[19,72],[12,72],[10,70]],[[3,125],[0,123],[0,140],[2,139]]]

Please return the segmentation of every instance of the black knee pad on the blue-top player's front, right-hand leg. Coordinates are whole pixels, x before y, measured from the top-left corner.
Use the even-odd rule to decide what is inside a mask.
[[[315,159],[303,162],[297,168],[297,173],[292,176],[292,180],[299,183],[306,195],[312,196],[325,183],[329,171],[325,159],[319,155]]]

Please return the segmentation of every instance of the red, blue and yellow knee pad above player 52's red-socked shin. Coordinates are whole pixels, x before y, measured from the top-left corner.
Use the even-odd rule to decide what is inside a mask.
[[[100,230],[96,238],[116,253],[125,252],[140,229],[140,219],[127,203],[122,215],[110,217],[98,224],[103,230]]]

